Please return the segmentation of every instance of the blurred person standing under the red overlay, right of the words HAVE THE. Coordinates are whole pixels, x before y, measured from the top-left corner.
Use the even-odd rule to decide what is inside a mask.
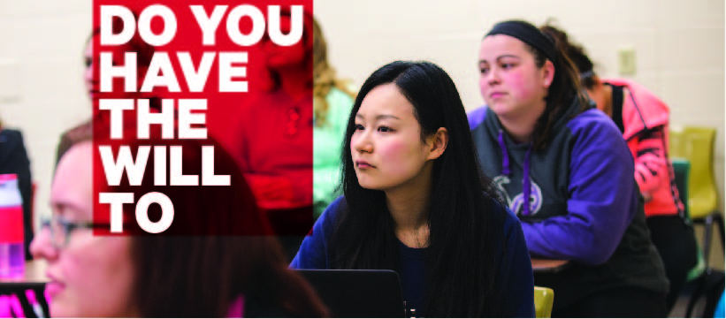
[[[289,8],[288,8],[289,9]],[[291,29],[283,8],[280,28]],[[265,35],[259,43],[267,85],[241,106],[234,125],[241,170],[260,208],[292,260],[313,214],[313,22],[303,13],[302,39],[280,46]]]

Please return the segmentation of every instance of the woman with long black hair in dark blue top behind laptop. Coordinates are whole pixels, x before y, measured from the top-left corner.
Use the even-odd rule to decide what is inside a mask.
[[[533,316],[519,222],[481,174],[454,82],[397,61],[363,83],[348,119],[342,189],[291,267],[395,270],[425,317]]]

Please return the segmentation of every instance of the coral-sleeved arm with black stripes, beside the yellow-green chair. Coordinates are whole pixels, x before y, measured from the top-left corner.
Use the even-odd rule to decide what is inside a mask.
[[[669,178],[668,159],[666,158],[664,127],[658,126],[645,130],[635,137],[635,180],[640,192],[647,196]]]

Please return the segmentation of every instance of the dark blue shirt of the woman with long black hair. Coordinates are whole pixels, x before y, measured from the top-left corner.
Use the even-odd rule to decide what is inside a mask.
[[[302,246],[290,264],[294,269],[329,270],[330,239],[335,229],[336,216],[345,209],[345,199],[333,201],[323,215],[317,219],[313,232],[302,241]],[[504,221],[504,237],[507,240],[508,268],[502,270],[498,278],[506,285],[507,300],[505,317],[534,316],[534,279],[531,260],[524,242],[519,220],[507,209]],[[425,316],[425,251],[426,248],[406,247],[399,241],[401,290],[406,308],[416,309],[416,316]],[[502,254],[493,254],[501,256]],[[504,261],[500,261],[504,262]]]

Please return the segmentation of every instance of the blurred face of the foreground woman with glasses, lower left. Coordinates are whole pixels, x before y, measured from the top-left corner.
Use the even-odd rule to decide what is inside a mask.
[[[58,163],[50,194],[55,218],[72,223],[93,220],[92,170],[88,170],[92,149],[90,142],[73,146]],[[139,316],[132,301],[131,239],[94,236],[88,228],[76,228],[64,237],[62,229],[54,227],[52,239],[50,230],[42,229],[30,246],[35,258],[48,262],[50,315]]]

